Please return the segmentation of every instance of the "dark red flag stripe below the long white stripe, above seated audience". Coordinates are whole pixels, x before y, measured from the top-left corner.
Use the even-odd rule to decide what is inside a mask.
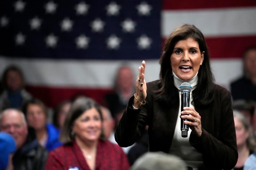
[[[26,90],[34,98],[41,100],[48,107],[55,108],[63,100],[71,100],[76,96],[87,96],[99,104],[103,102],[103,97],[111,91],[107,88],[73,88],[73,87],[45,87],[26,86]]]

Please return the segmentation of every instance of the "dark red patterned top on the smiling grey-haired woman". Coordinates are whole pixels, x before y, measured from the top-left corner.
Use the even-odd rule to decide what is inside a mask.
[[[109,141],[99,140],[97,146],[95,170],[128,170],[128,159],[122,148]],[[49,153],[45,170],[90,170],[82,151],[74,141],[62,145]]]

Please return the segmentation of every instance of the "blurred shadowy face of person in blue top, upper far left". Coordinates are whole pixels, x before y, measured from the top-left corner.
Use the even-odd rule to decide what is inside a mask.
[[[11,91],[17,91],[22,87],[22,77],[18,71],[10,70],[6,76],[7,88]]]

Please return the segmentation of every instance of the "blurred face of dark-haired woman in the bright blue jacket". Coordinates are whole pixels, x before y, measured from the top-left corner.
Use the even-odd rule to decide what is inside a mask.
[[[35,130],[42,130],[46,127],[46,113],[38,104],[29,104],[27,106],[27,122]]]

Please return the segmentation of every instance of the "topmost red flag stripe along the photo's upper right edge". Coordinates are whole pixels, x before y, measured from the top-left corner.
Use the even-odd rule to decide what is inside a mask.
[[[201,9],[201,8],[228,8],[228,7],[252,7],[256,6],[255,0],[245,1],[202,1],[202,0],[180,0],[178,2],[164,0],[164,10],[185,10],[185,9]]]

